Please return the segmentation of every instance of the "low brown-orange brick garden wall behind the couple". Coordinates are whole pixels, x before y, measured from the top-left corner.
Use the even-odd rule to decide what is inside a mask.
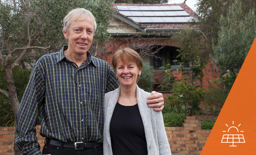
[[[41,151],[44,146],[44,138],[40,136],[40,126],[36,127],[38,143]],[[197,154],[201,150],[211,132],[211,130],[202,130],[201,124],[195,117],[187,117],[184,120],[183,127],[166,127],[166,134],[169,140],[172,155],[179,154]],[[14,155],[14,127],[0,127],[0,155]]]

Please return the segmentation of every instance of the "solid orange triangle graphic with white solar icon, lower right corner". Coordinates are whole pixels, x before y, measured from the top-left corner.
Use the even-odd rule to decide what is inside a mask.
[[[201,155],[256,154],[255,147],[256,38],[202,149]]]

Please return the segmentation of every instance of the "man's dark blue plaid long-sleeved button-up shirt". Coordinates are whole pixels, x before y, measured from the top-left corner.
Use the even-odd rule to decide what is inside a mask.
[[[78,68],[59,52],[34,65],[17,113],[15,142],[22,153],[41,154],[35,126],[40,112],[43,137],[62,142],[103,142],[104,94],[119,87],[110,65],[88,52]]]

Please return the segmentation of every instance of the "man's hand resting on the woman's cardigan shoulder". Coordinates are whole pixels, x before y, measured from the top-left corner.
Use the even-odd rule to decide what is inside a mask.
[[[153,108],[155,111],[162,111],[164,108],[164,98],[162,93],[153,91],[151,96],[147,97],[147,104],[149,108]],[[155,104],[151,104],[155,103]],[[159,107],[159,108],[158,108]]]

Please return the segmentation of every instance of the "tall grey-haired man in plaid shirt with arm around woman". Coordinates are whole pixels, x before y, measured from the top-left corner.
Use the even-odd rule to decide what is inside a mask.
[[[17,113],[15,142],[23,154],[103,154],[104,94],[119,87],[110,65],[88,52],[96,29],[95,18],[77,8],[64,18],[69,46],[35,63]],[[153,92],[152,92],[153,93]],[[149,99],[156,111],[163,108],[161,93]],[[40,134],[35,126],[40,110]]]

